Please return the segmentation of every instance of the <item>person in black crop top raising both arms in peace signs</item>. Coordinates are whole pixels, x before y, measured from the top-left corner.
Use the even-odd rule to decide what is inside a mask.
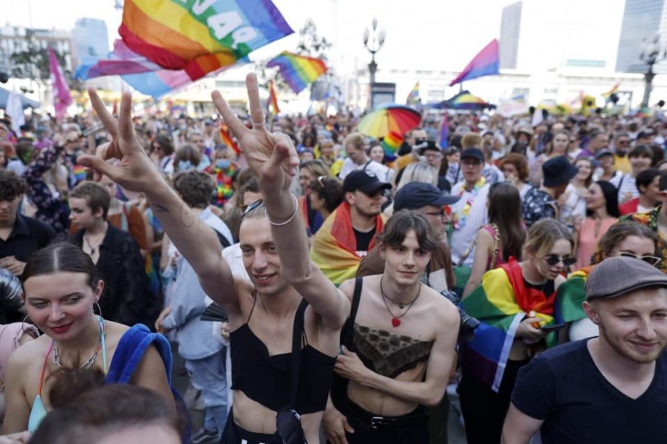
[[[79,163],[106,174],[124,188],[145,192],[169,238],[197,272],[202,288],[230,315],[234,409],[223,443],[271,444],[276,411],[289,404],[292,331],[303,299],[305,309],[301,378],[294,408],[309,443],[319,443],[328,383],[348,316],[348,299],[310,261],[303,221],[289,185],[298,157],[287,135],[264,128],[257,77],[246,79],[252,129],[234,115],[218,92],[214,103],[239,140],[259,179],[263,206],[246,210],[240,240],[250,281],[236,279],[220,256],[218,238],[177,197],[138,144],[131,125],[131,97],[124,94],[116,122],[90,90],[93,106],[113,141]],[[120,158],[118,165],[105,160]]]

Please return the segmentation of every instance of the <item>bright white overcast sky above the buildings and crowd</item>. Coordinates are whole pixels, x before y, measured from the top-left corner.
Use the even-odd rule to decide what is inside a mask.
[[[589,23],[590,40],[577,45],[588,54],[613,54],[618,45],[620,17],[625,0],[525,0],[551,6],[545,10],[545,26],[563,24],[572,17],[582,26]],[[547,3],[548,1],[548,3]],[[377,17],[387,31],[385,47],[378,53],[380,67],[413,69],[462,69],[492,38],[499,38],[501,10],[513,0],[274,0],[287,22],[298,31],[309,17],[322,35],[335,42],[330,63],[339,72],[369,62],[362,43],[364,27]],[[538,3],[534,3],[538,2]],[[118,35],[120,10],[114,0],[0,0],[2,24],[71,29],[79,17],[106,20],[110,40]],[[540,6],[541,7],[541,6]],[[582,17],[586,17],[585,19]],[[540,20],[540,17],[533,17]],[[538,25],[539,26],[539,25]],[[545,35],[544,44],[558,40],[557,31]],[[595,38],[604,35],[604,38]],[[255,51],[251,58],[269,58],[283,49],[294,49],[291,35]],[[548,51],[545,51],[548,56]],[[569,56],[562,54],[561,56]],[[576,57],[575,57],[576,58]],[[613,63],[613,60],[611,60]]]

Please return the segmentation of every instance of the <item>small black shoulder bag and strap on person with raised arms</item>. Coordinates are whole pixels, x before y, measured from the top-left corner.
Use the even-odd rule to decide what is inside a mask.
[[[294,316],[292,332],[291,379],[289,381],[289,405],[280,409],[275,417],[275,427],[283,444],[308,444],[301,427],[301,417],[296,409],[296,395],[299,388],[299,370],[301,368],[301,336],[303,335],[303,314],[308,302],[304,299]]]

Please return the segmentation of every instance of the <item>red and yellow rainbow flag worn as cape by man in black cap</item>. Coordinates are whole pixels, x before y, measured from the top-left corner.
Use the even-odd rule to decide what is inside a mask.
[[[375,236],[369,250],[375,245],[376,236],[384,227],[383,217],[376,217]],[[352,228],[350,206],[343,202],[317,231],[310,256],[325,276],[338,286],[357,274],[362,258],[356,252],[357,238]]]

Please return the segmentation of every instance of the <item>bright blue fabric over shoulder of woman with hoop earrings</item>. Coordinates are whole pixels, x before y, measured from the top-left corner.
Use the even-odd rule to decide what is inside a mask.
[[[151,333],[144,324],[135,324],[120,338],[113,359],[111,359],[109,373],[106,375],[106,384],[127,384],[146,349],[153,343],[162,357],[167,380],[171,386],[172,355],[169,342],[161,334]]]

